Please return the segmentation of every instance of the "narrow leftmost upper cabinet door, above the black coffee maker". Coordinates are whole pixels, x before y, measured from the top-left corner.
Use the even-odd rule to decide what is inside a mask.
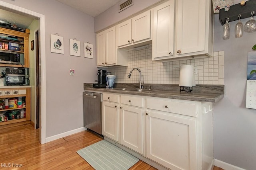
[[[105,64],[105,31],[96,34],[97,66]]]

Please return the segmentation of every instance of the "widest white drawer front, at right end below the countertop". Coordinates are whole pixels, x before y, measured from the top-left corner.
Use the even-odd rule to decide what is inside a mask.
[[[198,106],[195,103],[186,103],[178,101],[166,101],[147,99],[146,105],[148,109],[155,109],[160,111],[166,111],[171,113],[177,113],[181,115],[197,116]]]

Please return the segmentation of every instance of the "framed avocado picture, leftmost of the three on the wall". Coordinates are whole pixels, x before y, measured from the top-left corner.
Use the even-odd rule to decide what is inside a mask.
[[[64,54],[63,37],[51,34],[50,38],[51,38],[51,52]]]

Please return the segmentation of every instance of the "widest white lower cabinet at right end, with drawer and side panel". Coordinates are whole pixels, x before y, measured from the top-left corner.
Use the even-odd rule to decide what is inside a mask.
[[[213,166],[212,103],[146,99],[146,157],[172,170]]]

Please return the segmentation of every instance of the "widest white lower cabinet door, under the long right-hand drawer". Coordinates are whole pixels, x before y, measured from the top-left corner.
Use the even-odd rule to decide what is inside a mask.
[[[148,114],[148,115],[147,115]],[[146,156],[170,169],[197,170],[196,120],[146,113]]]

